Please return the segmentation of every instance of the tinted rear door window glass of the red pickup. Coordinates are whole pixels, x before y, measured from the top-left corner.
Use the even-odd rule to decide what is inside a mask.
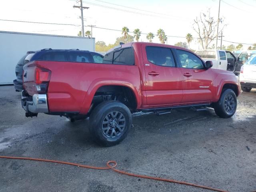
[[[150,63],[159,66],[175,67],[172,51],[164,47],[146,47],[147,58]]]

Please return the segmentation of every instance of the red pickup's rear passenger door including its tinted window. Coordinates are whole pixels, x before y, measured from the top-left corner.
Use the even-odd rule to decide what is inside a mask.
[[[182,73],[171,48],[142,45],[148,106],[170,106],[182,101]]]

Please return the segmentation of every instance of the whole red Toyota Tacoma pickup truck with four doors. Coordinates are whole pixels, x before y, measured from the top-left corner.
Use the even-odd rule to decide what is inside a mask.
[[[236,112],[240,94],[236,76],[211,69],[211,61],[204,62],[185,48],[121,44],[100,63],[62,56],[52,60],[52,56],[36,54],[24,66],[22,107],[26,116],[40,112],[71,120],[89,116],[90,132],[105,146],[127,136],[133,112],[165,114],[172,108],[211,107],[222,118]],[[78,53],[78,57],[83,56]]]

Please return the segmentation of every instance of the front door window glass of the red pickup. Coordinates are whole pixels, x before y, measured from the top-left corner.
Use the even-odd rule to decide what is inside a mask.
[[[184,51],[184,50],[176,50],[178,54],[178,59],[183,68],[195,68],[195,69],[204,69],[204,64],[200,58],[195,56],[194,54]]]

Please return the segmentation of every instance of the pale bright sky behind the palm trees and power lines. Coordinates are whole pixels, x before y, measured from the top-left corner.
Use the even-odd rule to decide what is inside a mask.
[[[1,0],[0,19],[75,26],[0,20],[0,30],[77,36],[81,30],[81,12],[78,8],[73,8],[73,5],[79,4],[75,0]],[[130,35],[133,35],[132,31],[136,28],[146,34],[156,34],[157,30],[162,28],[168,36],[185,37],[188,33],[192,34],[195,39],[190,48],[198,49],[200,47],[196,40],[198,36],[192,27],[193,20],[200,12],[207,12],[208,9],[211,16],[217,19],[218,5],[219,0],[84,0],[83,6],[90,7],[84,10],[85,31],[91,30],[87,25],[116,30],[127,26]],[[256,43],[255,8],[256,0],[221,0],[220,17],[224,18],[224,24],[227,25],[223,30],[223,40]],[[100,28],[92,28],[92,36],[96,42],[113,44],[117,37],[122,36],[120,31]],[[148,41],[146,35],[142,34],[140,41]],[[153,42],[159,42],[159,39],[155,36]],[[186,42],[186,38],[168,37],[167,44],[177,42]],[[216,40],[213,43],[216,44]],[[222,44],[228,46],[232,43]],[[244,48],[248,46],[244,44]]]

